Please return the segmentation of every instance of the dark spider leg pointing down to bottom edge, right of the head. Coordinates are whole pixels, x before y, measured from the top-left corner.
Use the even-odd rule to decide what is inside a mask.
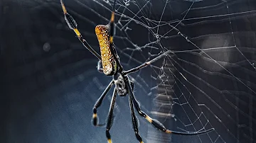
[[[129,83],[129,81],[127,82],[127,84]],[[131,88],[131,85],[129,84],[129,87]],[[132,125],[134,128],[134,132],[135,132],[135,136],[137,138],[137,140],[139,141],[139,143],[143,143],[142,141],[142,137],[139,135],[139,130],[138,130],[138,120],[136,118],[136,115],[134,113],[134,107],[133,107],[133,103],[132,103],[132,96],[131,93],[129,92],[129,107],[132,113]]]

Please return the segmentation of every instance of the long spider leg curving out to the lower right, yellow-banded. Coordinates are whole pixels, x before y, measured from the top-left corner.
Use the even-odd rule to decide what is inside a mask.
[[[128,78],[128,77],[127,77]],[[148,122],[151,123],[151,125],[153,125],[154,127],[156,127],[156,129],[158,130],[161,130],[162,132],[166,132],[167,134],[177,134],[177,135],[199,135],[199,134],[203,134],[203,133],[206,133],[206,132],[210,132],[210,131],[213,131],[214,128],[211,128],[209,130],[205,130],[205,131],[201,131],[201,132],[177,132],[177,131],[172,131],[172,130],[168,130],[166,129],[166,127],[164,127],[163,124],[161,124],[161,122],[159,122],[158,120],[156,119],[152,119],[149,117],[149,115],[146,115],[146,113],[144,113],[141,108],[139,107],[139,103],[138,101],[136,100],[136,98],[134,97],[134,94],[132,92],[132,88],[129,84],[129,79],[127,80],[126,82],[128,84],[128,91],[129,91],[129,95],[131,96],[132,98],[132,101],[134,103],[134,106],[137,110],[137,112],[139,113],[139,115],[141,115],[142,117],[144,117]]]

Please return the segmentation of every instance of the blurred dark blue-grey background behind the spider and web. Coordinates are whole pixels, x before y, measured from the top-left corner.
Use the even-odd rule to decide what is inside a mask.
[[[64,2],[84,38],[100,53],[94,29],[108,23],[112,1]],[[125,69],[152,58],[149,52],[176,51],[154,64],[166,67],[163,71],[147,67],[131,74],[142,109],[172,130],[215,128],[200,136],[162,135],[141,118],[144,142],[255,142],[256,1],[133,1],[129,10],[124,2],[117,0],[116,22],[122,21],[114,42]],[[141,23],[125,27],[131,18]],[[159,35],[166,36],[160,42],[152,34],[157,25]],[[68,29],[60,2],[1,0],[0,33],[0,142],[107,142],[105,128],[93,127],[91,117],[111,77],[96,70],[97,59]],[[127,50],[150,42],[158,49]],[[155,86],[159,88],[152,91]],[[167,86],[174,91],[163,91]],[[162,92],[171,94],[171,112],[162,109],[164,103],[157,106]],[[112,90],[99,108],[100,122],[111,95]],[[175,118],[153,114],[160,110]],[[114,115],[113,142],[137,142],[127,97],[117,97]]]

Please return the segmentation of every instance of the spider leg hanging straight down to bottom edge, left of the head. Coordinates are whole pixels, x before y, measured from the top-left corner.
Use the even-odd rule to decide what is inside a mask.
[[[107,115],[107,127],[106,127],[106,136],[107,136],[107,142],[112,143],[111,135],[110,135],[110,128],[112,127],[112,120],[113,120],[113,111],[114,111],[114,103],[117,98],[117,89],[114,88],[114,93],[112,96],[112,100],[110,103],[110,110]]]

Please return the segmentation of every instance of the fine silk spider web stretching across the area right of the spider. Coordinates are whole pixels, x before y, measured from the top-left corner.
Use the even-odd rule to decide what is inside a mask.
[[[112,1],[95,4],[109,9],[105,5]],[[147,142],[255,142],[255,6],[253,1],[117,1],[115,45],[125,69],[172,51],[131,75],[140,101],[152,100],[151,107],[141,102],[143,109],[151,108],[171,130],[215,128],[181,137],[149,126]]]

